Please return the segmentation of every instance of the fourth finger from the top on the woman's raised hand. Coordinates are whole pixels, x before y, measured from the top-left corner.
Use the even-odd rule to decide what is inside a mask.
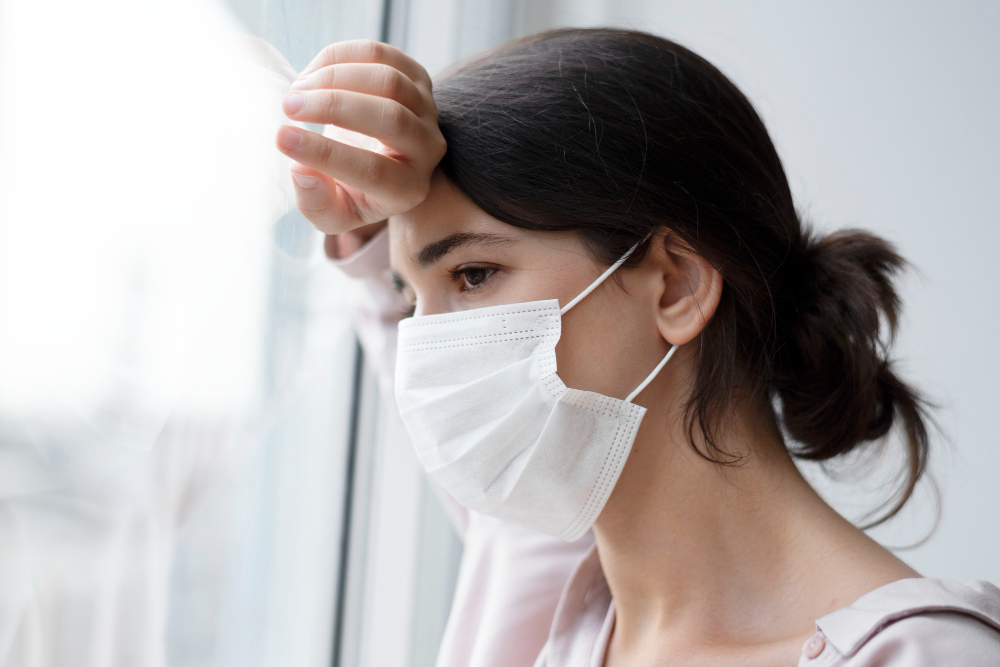
[[[278,130],[277,146],[299,164],[323,172],[369,197],[395,204],[393,208],[416,205],[403,201],[414,190],[411,183],[415,176],[413,168],[404,162],[290,125]]]

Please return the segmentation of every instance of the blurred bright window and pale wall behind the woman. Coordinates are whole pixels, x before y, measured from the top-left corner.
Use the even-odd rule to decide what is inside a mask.
[[[0,664],[433,665],[461,544],[291,206],[286,70],[591,25],[714,63],[803,217],[919,269],[895,357],[943,405],[940,500],[872,534],[1000,582],[1000,5],[0,0]],[[860,521],[893,456],[803,469]]]

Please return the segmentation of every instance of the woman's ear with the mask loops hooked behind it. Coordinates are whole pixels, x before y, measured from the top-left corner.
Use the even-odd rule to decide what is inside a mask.
[[[660,334],[672,345],[694,339],[722,298],[722,274],[676,234],[657,234],[650,249],[662,280],[657,307]]]

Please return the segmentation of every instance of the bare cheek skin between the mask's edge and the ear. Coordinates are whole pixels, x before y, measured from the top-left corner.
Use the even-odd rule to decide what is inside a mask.
[[[556,361],[566,386],[623,399],[662,357],[662,340],[652,309],[613,289],[595,290],[563,316]]]

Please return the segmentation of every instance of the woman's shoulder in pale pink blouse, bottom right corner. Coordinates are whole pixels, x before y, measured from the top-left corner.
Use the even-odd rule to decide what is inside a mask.
[[[802,665],[1000,666],[1000,589],[988,581],[901,579],[816,627],[828,650]]]

